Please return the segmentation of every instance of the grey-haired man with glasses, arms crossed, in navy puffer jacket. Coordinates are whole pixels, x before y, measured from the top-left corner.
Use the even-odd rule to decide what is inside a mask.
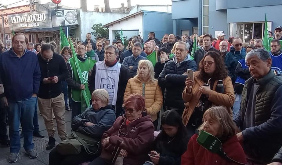
[[[186,42],[175,43],[175,56],[165,64],[158,78],[158,84],[165,90],[166,110],[176,110],[182,116],[185,108],[182,92],[185,88],[187,69],[197,70],[197,64],[191,60],[189,44]]]

